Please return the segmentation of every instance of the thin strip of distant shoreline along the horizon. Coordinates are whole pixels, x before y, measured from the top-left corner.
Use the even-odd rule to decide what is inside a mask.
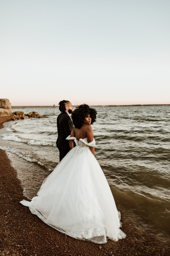
[[[130,107],[130,106],[169,106],[170,104],[133,104],[133,105],[90,105],[93,107]],[[12,106],[12,109],[25,109],[25,108],[54,108],[54,106]],[[55,106],[58,108],[58,106]]]

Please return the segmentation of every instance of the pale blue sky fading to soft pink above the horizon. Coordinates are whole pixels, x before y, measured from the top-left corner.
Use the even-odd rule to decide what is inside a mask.
[[[169,13],[169,0],[0,0],[0,98],[170,104]]]

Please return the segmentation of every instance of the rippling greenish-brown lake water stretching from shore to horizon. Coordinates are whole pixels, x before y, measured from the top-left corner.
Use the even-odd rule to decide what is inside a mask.
[[[95,156],[116,203],[167,239],[170,220],[170,106],[95,107]],[[48,118],[4,123],[0,148],[8,152],[29,199],[59,163],[58,108],[25,108]]]

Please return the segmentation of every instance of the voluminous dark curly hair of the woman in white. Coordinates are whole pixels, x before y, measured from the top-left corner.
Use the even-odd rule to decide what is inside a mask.
[[[85,117],[90,114],[91,116],[91,124],[96,122],[96,109],[90,108],[87,104],[82,104],[76,106],[76,109],[73,111],[71,115],[71,119],[73,121],[74,127],[80,129]]]

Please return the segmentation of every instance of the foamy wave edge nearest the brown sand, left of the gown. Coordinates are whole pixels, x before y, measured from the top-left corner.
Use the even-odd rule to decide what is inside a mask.
[[[13,154],[15,154],[15,155],[21,157],[22,159],[24,159],[24,160],[26,160],[26,161],[28,161],[28,162],[36,163],[36,164],[38,164],[38,165],[43,166],[45,169],[47,169],[47,170],[49,170],[49,171],[51,170],[50,168],[48,168],[45,164],[43,164],[42,162],[40,162],[40,161],[37,160],[36,158],[32,158],[32,157],[29,156],[29,155],[24,155],[24,152],[21,152],[21,151],[19,151],[19,150],[17,150],[17,149],[14,149],[14,148],[5,147],[5,146],[0,146],[0,148],[1,148],[2,150],[7,151],[7,152],[13,153]]]

